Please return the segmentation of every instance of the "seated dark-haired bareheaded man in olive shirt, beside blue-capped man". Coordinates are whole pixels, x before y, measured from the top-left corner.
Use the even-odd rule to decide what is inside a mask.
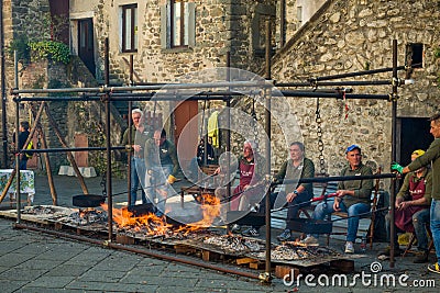
[[[278,173],[275,176],[277,181],[282,181],[283,179],[315,177],[315,165],[310,159],[305,157],[302,143],[292,143],[289,155],[290,159],[283,164]],[[288,222],[298,216],[300,207],[299,203],[310,201],[314,198],[314,185],[312,183],[286,184],[285,191],[279,192],[278,195],[286,196],[288,206],[286,222]],[[290,239],[290,229],[286,228],[280,235],[278,235],[277,239],[285,241]]]

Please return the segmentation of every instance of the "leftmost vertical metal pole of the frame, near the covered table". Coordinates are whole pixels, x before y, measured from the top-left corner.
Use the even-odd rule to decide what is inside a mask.
[[[19,57],[16,49],[14,50],[14,88],[19,88]],[[4,115],[6,113],[3,113]],[[20,194],[20,102],[15,101],[15,201],[16,201],[16,223],[21,221],[21,194]],[[12,176],[12,174],[11,174]]]

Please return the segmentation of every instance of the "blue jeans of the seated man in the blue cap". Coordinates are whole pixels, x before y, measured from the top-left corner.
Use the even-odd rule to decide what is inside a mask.
[[[317,205],[314,212],[314,218],[315,219],[323,219],[327,215],[336,212],[333,210],[333,203],[334,199],[327,200],[326,202],[322,202]],[[349,209],[346,209],[344,202],[342,201],[339,204],[339,209],[341,209],[341,212],[346,212],[349,215],[348,218],[348,230],[346,230],[346,241],[354,243],[356,239],[356,234],[358,234],[358,227],[359,227],[359,217],[354,215],[367,213],[370,211],[370,204],[366,203],[355,203],[351,205]],[[353,217],[351,217],[353,216]],[[318,236],[315,236],[318,237]]]

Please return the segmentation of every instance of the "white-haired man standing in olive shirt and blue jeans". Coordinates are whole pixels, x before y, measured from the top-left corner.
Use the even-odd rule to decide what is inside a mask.
[[[133,150],[131,156],[131,187],[130,187],[130,205],[136,204],[138,199],[138,189],[141,184],[141,196],[142,204],[146,204],[150,201],[145,196],[145,191],[143,187],[144,178],[145,178],[145,160],[144,160],[144,151],[142,146],[145,144],[147,138],[147,134],[144,132],[144,125],[142,125],[142,111],[140,109],[133,109],[131,111],[131,119],[133,121],[133,125],[131,126],[131,144],[129,145],[130,137],[130,128],[127,128],[123,137],[122,145],[125,148]]]

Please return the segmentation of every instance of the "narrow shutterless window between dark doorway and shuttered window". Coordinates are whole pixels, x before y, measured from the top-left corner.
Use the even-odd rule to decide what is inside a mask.
[[[122,7],[122,52],[138,50],[138,5]]]

